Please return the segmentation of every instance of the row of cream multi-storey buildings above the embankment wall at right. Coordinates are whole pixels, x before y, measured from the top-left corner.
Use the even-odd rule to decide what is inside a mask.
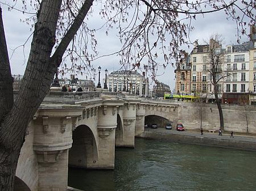
[[[196,92],[207,101],[214,100],[212,75],[209,72],[211,43],[212,40],[209,45],[195,43],[188,56],[189,61],[177,67],[176,92]],[[250,104],[256,104],[256,26],[250,27],[249,42],[226,45],[225,49],[219,45],[216,51],[222,54],[216,74],[216,79],[220,79],[217,84],[218,98],[222,99],[222,103],[239,104],[241,98],[248,97],[246,99]]]

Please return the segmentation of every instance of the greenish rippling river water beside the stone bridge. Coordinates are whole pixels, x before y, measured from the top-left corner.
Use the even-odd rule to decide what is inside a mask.
[[[256,190],[256,152],[136,139],[116,148],[115,170],[69,168],[85,191]]]

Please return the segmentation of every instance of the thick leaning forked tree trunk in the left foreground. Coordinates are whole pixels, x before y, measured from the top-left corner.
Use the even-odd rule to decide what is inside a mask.
[[[62,0],[41,2],[22,86],[13,107],[9,107],[10,111],[7,110],[6,115],[0,114],[0,119],[3,118],[2,122],[0,121],[0,191],[13,190],[16,164],[28,122],[46,96],[61,58],[88,14],[93,0],[84,2],[72,26],[51,57],[61,2]],[[5,55],[8,56],[7,49]],[[7,61],[9,65],[9,59]],[[13,96],[12,89],[11,95]],[[2,107],[3,103],[0,104]]]

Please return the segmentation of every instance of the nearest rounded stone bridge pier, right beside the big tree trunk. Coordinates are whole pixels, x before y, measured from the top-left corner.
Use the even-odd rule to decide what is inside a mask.
[[[68,149],[72,145],[69,118],[39,116],[34,120],[34,151],[38,159],[38,190],[66,191]]]

